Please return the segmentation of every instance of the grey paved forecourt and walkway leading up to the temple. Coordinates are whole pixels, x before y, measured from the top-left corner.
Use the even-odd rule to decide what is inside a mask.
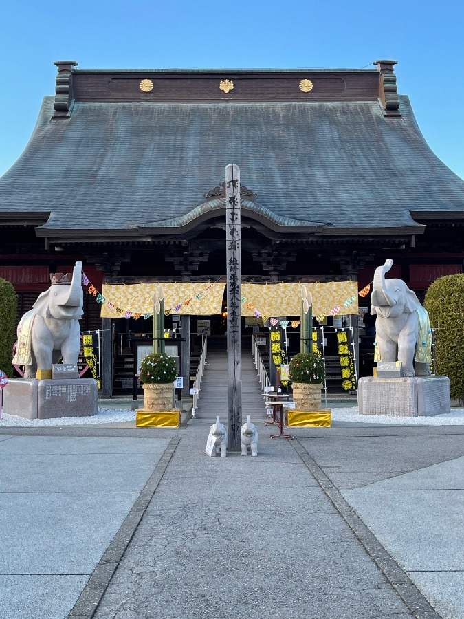
[[[271,440],[244,359],[258,457],[209,458],[216,361],[184,428],[0,426],[0,618],[462,619],[464,427]]]

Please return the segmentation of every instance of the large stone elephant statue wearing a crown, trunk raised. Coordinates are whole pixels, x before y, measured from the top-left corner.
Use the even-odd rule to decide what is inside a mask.
[[[50,372],[52,378],[52,364],[60,358],[67,365],[78,362],[79,318],[84,313],[82,262],[76,262],[72,276],[54,273],[50,279],[52,285],[19,321],[13,363],[24,365],[24,378],[35,378],[37,370],[43,376]]]

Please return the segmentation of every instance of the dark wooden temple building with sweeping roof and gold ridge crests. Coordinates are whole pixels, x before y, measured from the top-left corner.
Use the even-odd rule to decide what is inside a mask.
[[[225,282],[230,163],[241,171],[243,283],[361,290],[393,258],[391,275],[421,298],[437,277],[463,271],[464,182],[397,94],[396,61],[327,70],[55,64],[55,94],[0,179],[0,276],[23,314],[50,272],[83,261],[100,294],[100,303],[85,295],[82,330],[102,331],[103,393],[114,392],[124,338],[151,332],[146,307],[129,318],[102,312],[103,285],[201,291]],[[187,349],[197,316],[223,332],[224,307],[188,314],[176,307],[189,298],[178,300],[166,324],[181,325]]]

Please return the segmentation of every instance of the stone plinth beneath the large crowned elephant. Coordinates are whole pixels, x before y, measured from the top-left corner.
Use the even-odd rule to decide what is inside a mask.
[[[93,378],[10,378],[3,411],[26,419],[89,417],[97,414],[97,382]]]

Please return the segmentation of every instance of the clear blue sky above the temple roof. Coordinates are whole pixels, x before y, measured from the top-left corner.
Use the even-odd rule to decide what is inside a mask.
[[[442,0],[17,0],[0,8],[0,175],[56,60],[83,69],[374,68],[393,58],[435,153],[464,178],[464,3]]]

